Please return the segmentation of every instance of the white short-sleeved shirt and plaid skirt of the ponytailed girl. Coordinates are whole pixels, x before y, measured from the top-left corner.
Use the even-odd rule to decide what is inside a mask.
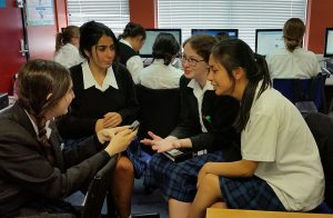
[[[260,87],[261,82],[256,95]],[[324,174],[315,140],[294,105],[273,88],[254,98],[241,150],[244,160],[259,165],[252,178],[220,177],[228,207],[307,211],[323,201]]]

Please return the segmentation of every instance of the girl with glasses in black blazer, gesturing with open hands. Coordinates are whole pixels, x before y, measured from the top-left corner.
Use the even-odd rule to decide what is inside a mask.
[[[192,148],[195,152],[208,150],[208,153],[176,164],[163,153],[152,156],[144,185],[160,188],[169,198],[171,218],[186,217],[194,199],[198,172],[206,161],[239,158],[238,147],[233,147],[239,142],[239,135],[232,127],[239,103],[234,98],[215,96],[206,80],[210,50],[215,43],[216,39],[210,34],[195,34],[184,42],[179,125],[164,139],[149,132],[152,139],[142,140],[158,152],[174,148]],[[226,150],[230,151],[228,155],[224,153]]]

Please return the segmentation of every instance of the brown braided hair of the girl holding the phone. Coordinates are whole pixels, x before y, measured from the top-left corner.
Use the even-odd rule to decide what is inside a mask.
[[[19,71],[18,103],[36,120],[39,131],[38,141],[44,157],[51,164],[54,162],[54,158],[47,138],[46,112],[59,103],[70,85],[70,72],[54,61],[30,60]]]

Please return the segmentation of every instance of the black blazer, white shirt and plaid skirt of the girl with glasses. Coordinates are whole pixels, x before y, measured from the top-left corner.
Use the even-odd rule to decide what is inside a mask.
[[[196,177],[208,161],[239,159],[239,135],[232,127],[239,102],[231,97],[218,97],[210,82],[203,89],[195,80],[180,80],[181,118],[170,133],[179,139],[190,138],[194,152],[208,153],[182,162],[173,162],[162,153],[152,156],[144,172],[144,186],[160,188],[168,198],[191,202],[196,192]],[[206,120],[203,117],[211,117]],[[226,155],[228,153],[228,155]]]

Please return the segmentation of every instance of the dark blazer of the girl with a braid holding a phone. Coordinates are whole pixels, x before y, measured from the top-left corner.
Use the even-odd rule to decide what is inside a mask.
[[[63,150],[51,121],[47,127],[54,158],[51,165],[42,155],[37,126],[18,102],[0,116],[0,217],[12,212],[24,216],[23,208],[38,211],[47,209],[46,205],[54,206],[87,187],[110,159],[97,136]]]

